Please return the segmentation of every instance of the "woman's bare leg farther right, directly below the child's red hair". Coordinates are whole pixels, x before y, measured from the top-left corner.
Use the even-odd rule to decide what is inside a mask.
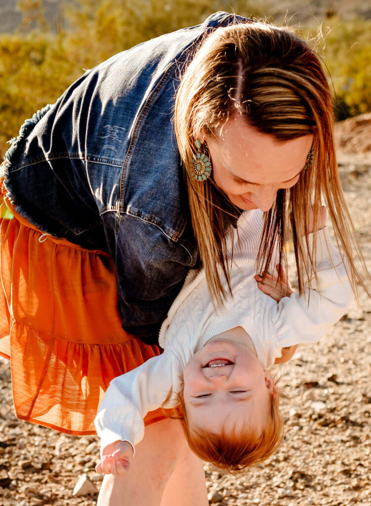
[[[188,447],[163,491],[160,506],[209,506],[205,473],[200,460]]]

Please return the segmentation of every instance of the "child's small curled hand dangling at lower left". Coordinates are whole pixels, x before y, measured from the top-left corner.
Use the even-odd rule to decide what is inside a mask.
[[[130,471],[132,460],[132,445],[127,441],[115,441],[104,448],[103,457],[97,463],[95,470],[98,474],[123,476]]]

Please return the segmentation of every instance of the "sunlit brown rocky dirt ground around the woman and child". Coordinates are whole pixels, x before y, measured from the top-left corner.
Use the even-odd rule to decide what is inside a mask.
[[[371,114],[338,124],[336,136],[346,200],[371,271]],[[242,477],[205,465],[211,503],[371,506],[370,322],[371,301],[361,292],[359,306],[354,302],[319,344],[300,348],[280,368],[290,394],[282,403],[281,447]],[[84,474],[100,487],[97,438],[60,435],[17,420],[3,359],[0,377],[0,504],[96,504],[97,493],[72,492]]]

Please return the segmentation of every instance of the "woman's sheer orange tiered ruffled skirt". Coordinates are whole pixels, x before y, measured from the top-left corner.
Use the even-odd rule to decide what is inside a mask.
[[[0,221],[0,355],[10,359],[16,416],[95,434],[111,379],[160,349],[122,329],[108,254],[43,234],[7,207],[14,218]],[[163,418],[158,409],[145,424]]]

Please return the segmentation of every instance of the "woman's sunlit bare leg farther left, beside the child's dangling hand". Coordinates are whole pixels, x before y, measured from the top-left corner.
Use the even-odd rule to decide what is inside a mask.
[[[188,444],[179,420],[163,420],[146,427],[130,472],[126,476],[104,477],[97,506],[160,506],[164,489],[186,450]],[[189,476],[194,479],[192,472]],[[204,504],[193,502],[192,506]]]

